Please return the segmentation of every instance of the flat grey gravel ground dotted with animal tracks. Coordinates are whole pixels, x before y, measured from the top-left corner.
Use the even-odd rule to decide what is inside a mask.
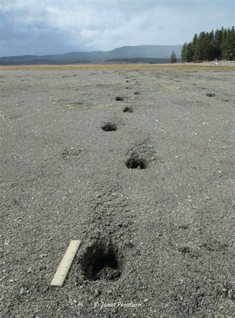
[[[1,71],[2,317],[233,316],[234,75]]]

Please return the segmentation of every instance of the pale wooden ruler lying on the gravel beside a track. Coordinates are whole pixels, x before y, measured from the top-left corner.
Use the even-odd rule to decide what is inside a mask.
[[[67,276],[68,270],[72,264],[74,256],[77,253],[80,243],[80,240],[72,240],[70,242],[50,286],[63,286],[64,279]]]

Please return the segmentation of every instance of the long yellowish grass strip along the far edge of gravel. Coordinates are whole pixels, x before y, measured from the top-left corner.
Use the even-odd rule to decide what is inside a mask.
[[[202,70],[235,70],[231,65],[194,65],[194,64],[72,64],[72,65],[10,65],[0,66],[0,70],[45,70],[45,69],[202,69]]]

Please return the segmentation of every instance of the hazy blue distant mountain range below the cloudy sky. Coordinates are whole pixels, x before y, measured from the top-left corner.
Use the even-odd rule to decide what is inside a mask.
[[[0,65],[22,65],[22,64],[71,64],[102,62],[109,59],[123,58],[169,58],[172,51],[180,58],[182,45],[139,45],[126,46],[112,51],[94,52],[71,52],[53,55],[23,55],[23,56],[3,56],[0,57]]]

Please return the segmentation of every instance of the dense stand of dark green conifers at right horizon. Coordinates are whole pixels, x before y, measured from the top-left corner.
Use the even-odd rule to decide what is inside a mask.
[[[212,30],[194,35],[193,40],[184,43],[181,51],[183,62],[213,60],[215,58],[235,59],[235,29]]]

